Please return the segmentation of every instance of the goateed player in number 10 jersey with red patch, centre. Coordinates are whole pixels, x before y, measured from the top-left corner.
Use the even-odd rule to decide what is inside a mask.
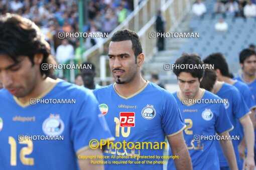
[[[104,154],[136,158],[113,158],[116,161],[129,160],[131,163],[106,164],[105,168],[163,169],[163,148],[153,148],[149,143],[154,145],[164,142],[167,136],[173,154],[179,157],[175,159],[176,167],[191,169],[182,132],[185,124],[175,98],[167,90],[141,76],[140,69],[145,56],[137,33],[129,29],[115,32],[109,43],[108,56],[115,83],[95,89],[94,94],[110,131],[115,134],[115,141],[133,142],[137,145],[141,143],[141,147],[133,148],[130,144],[130,148],[128,145],[126,148],[109,148]],[[159,159],[156,156],[160,156]],[[152,162],[143,164],[144,160]]]

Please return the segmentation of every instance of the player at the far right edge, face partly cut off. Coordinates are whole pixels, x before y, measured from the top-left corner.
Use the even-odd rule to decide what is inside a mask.
[[[233,79],[237,79],[246,83],[256,101],[256,53],[251,49],[243,49],[239,53],[239,62],[242,68],[242,73]],[[255,143],[256,143],[256,130],[254,130]],[[254,143],[254,162],[256,163],[256,144]]]

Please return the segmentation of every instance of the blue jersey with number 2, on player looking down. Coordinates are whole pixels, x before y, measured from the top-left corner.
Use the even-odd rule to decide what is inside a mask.
[[[184,138],[190,153],[193,169],[219,169],[218,151],[214,140],[199,140],[201,135],[210,136],[225,133],[233,129],[223,103],[182,104],[179,91],[173,93],[181,116],[187,127]],[[217,95],[205,90],[202,99],[218,99]],[[169,155],[172,155],[171,149]],[[168,169],[175,169],[174,161],[169,159]]]

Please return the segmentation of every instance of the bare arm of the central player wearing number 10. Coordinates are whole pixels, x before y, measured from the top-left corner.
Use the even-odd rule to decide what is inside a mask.
[[[176,169],[192,169],[192,162],[187,145],[183,137],[183,131],[173,136],[167,136],[173,155],[179,156],[174,159]]]

